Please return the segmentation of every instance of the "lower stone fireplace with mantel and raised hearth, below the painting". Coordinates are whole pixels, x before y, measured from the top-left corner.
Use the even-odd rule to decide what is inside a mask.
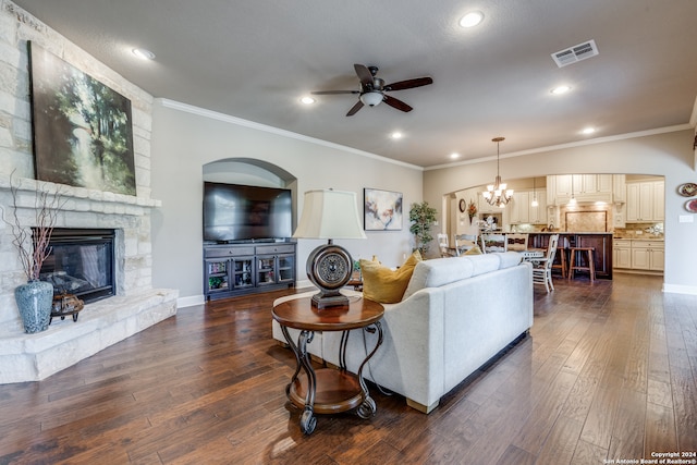
[[[93,302],[80,313],[77,321],[53,319],[47,331],[25,334],[13,292],[14,287],[26,282],[26,277],[12,244],[12,228],[2,221],[0,383],[44,379],[176,313],[176,291],[151,286],[149,219],[150,210],[157,208],[159,201],[0,175],[0,208],[7,221],[14,218],[10,187],[17,184],[17,217],[26,228],[35,225],[37,192],[58,189],[65,200],[56,224],[58,255],[52,264],[47,260],[49,269],[56,267],[61,255],[75,253],[61,244],[66,237],[69,241],[75,238],[70,238],[69,233],[80,232],[78,235],[87,238],[83,241],[87,246],[84,255],[97,253],[99,247],[96,246],[103,244],[103,234],[109,233],[113,248],[113,279],[108,290],[111,295],[94,296]],[[60,259],[66,269],[52,271],[60,277],[70,274],[75,281],[69,285],[74,287],[83,281],[93,280],[96,285],[91,287],[103,291],[101,284],[105,281],[98,273],[82,269],[82,257]]]

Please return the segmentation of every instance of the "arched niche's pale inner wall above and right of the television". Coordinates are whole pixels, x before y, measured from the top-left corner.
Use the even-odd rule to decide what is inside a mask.
[[[291,189],[293,229],[297,223],[297,179],[284,169],[254,158],[224,158],[203,166],[204,181]]]

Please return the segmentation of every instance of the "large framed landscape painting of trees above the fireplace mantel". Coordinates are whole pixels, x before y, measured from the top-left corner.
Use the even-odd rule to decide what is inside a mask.
[[[36,179],[136,195],[131,100],[28,48]]]

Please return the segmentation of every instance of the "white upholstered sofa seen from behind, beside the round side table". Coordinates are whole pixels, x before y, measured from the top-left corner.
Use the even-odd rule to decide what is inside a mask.
[[[429,413],[533,326],[531,266],[515,252],[421,261],[402,302],[383,305],[384,339],[363,375]],[[285,342],[276,321],[273,336]],[[340,332],[315,334],[308,351],[338,366],[340,339]],[[377,333],[351,333],[350,371],[357,371],[376,340]]]

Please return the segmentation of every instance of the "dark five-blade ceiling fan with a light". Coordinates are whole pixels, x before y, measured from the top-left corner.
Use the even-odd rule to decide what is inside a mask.
[[[378,66],[365,66],[363,64],[354,64],[358,79],[360,79],[360,90],[317,90],[311,94],[315,95],[333,95],[333,94],[358,94],[358,101],[354,105],[346,117],[353,117],[364,105],[368,107],[376,107],[384,101],[392,108],[396,108],[401,111],[412,111],[412,107],[404,103],[402,100],[398,100],[394,97],[390,97],[386,91],[391,90],[404,90],[414,87],[426,86],[433,84],[433,79],[430,77],[416,77],[414,79],[400,81],[392,84],[384,84],[384,81],[377,77]]]

